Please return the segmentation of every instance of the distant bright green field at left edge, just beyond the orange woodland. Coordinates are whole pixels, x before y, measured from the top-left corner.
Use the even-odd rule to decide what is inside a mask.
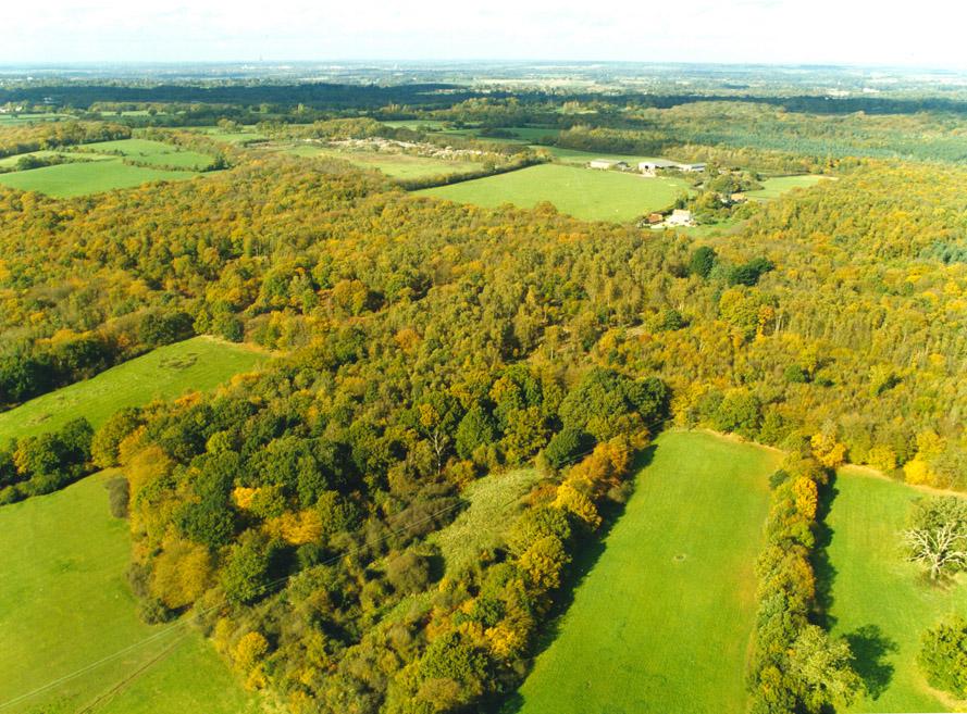
[[[128,166],[121,159],[59,164],[0,174],[0,184],[22,191],[39,191],[58,198],[131,188],[149,181],[184,180],[197,176],[189,171],[165,171]]]

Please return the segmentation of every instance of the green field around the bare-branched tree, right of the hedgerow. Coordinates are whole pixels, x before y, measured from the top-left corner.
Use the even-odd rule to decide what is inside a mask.
[[[903,558],[900,533],[923,493],[848,467],[835,490],[826,518],[832,529],[829,614],[833,634],[851,640],[870,690],[851,711],[967,711],[938,698],[916,664],[923,631],[949,614],[967,613],[967,577],[939,589]]]

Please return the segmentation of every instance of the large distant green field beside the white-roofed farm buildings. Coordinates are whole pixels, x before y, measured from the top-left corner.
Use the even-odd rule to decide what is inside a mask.
[[[501,203],[531,208],[549,201],[561,213],[578,218],[621,222],[668,208],[687,190],[689,185],[678,178],[542,164],[417,193],[488,208]]]

